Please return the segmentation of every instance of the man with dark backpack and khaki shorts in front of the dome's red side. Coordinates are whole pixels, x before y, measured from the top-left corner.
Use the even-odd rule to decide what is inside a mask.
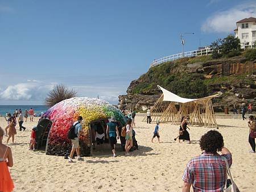
[[[71,139],[72,142],[72,149],[71,149],[71,153],[68,159],[68,162],[74,162],[72,160],[73,155],[76,151],[77,154],[77,160],[81,161],[82,158],[80,157],[80,146],[79,146],[79,137],[82,134],[82,116],[78,116],[77,117],[77,121],[73,123],[73,126],[75,127],[75,135],[76,137],[74,139]]]

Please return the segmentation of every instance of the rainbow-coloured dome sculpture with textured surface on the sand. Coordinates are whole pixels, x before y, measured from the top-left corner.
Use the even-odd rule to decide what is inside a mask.
[[[61,101],[49,108],[44,115],[52,121],[46,145],[47,155],[62,156],[71,149],[71,140],[67,139],[67,133],[79,115],[84,119],[84,136],[80,136],[82,155],[90,155],[90,122],[110,116],[114,116],[122,125],[126,121],[121,111],[102,99],[75,97]]]

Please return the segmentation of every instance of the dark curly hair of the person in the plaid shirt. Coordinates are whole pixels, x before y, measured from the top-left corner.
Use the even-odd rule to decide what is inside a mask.
[[[217,153],[224,147],[224,140],[218,131],[208,131],[200,139],[200,148],[202,151]]]

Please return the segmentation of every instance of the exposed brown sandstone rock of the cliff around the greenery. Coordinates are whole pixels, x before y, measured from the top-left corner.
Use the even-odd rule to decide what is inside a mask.
[[[213,82],[209,84],[211,90],[210,94],[221,91],[223,94],[219,98],[213,99],[214,111],[222,112],[224,107],[229,107],[232,110],[234,103],[237,108],[242,105],[249,105],[251,103],[253,111],[256,111],[256,62],[246,61],[245,58],[237,57],[233,59],[221,59],[206,62],[195,62],[187,64],[187,66],[179,66],[171,69],[172,73],[202,73],[205,80],[216,77],[233,78],[232,82]],[[246,78],[248,82],[236,82],[236,77],[244,74],[242,78]],[[240,76],[239,76],[240,78]],[[133,94],[133,89],[138,84],[142,83],[142,79],[131,82],[127,89],[127,95],[119,96],[118,107],[121,109],[136,108],[138,110],[145,110],[154,105],[162,92],[156,88],[148,90],[143,94]]]

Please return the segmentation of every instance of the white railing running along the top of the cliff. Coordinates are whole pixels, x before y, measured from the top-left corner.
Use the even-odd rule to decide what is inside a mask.
[[[246,42],[246,44],[241,43],[241,47],[243,47],[243,49],[246,49],[247,47],[253,48],[254,45],[255,45],[255,41]],[[220,52],[220,51],[221,50],[218,50],[218,52]],[[182,53],[177,53],[177,54],[174,54],[174,55],[169,55],[169,56],[166,56],[166,57],[162,57],[158,60],[154,60],[153,62],[151,62],[150,68],[152,66],[160,65],[163,62],[174,61],[176,59],[180,59],[180,58],[184,58],[184,57],[199,57],[199,56],[203,56],[203,55],[212,55],[212,48],[206,47],[204,49],[197,49],[195,51],[184,52],[183,54]]]

